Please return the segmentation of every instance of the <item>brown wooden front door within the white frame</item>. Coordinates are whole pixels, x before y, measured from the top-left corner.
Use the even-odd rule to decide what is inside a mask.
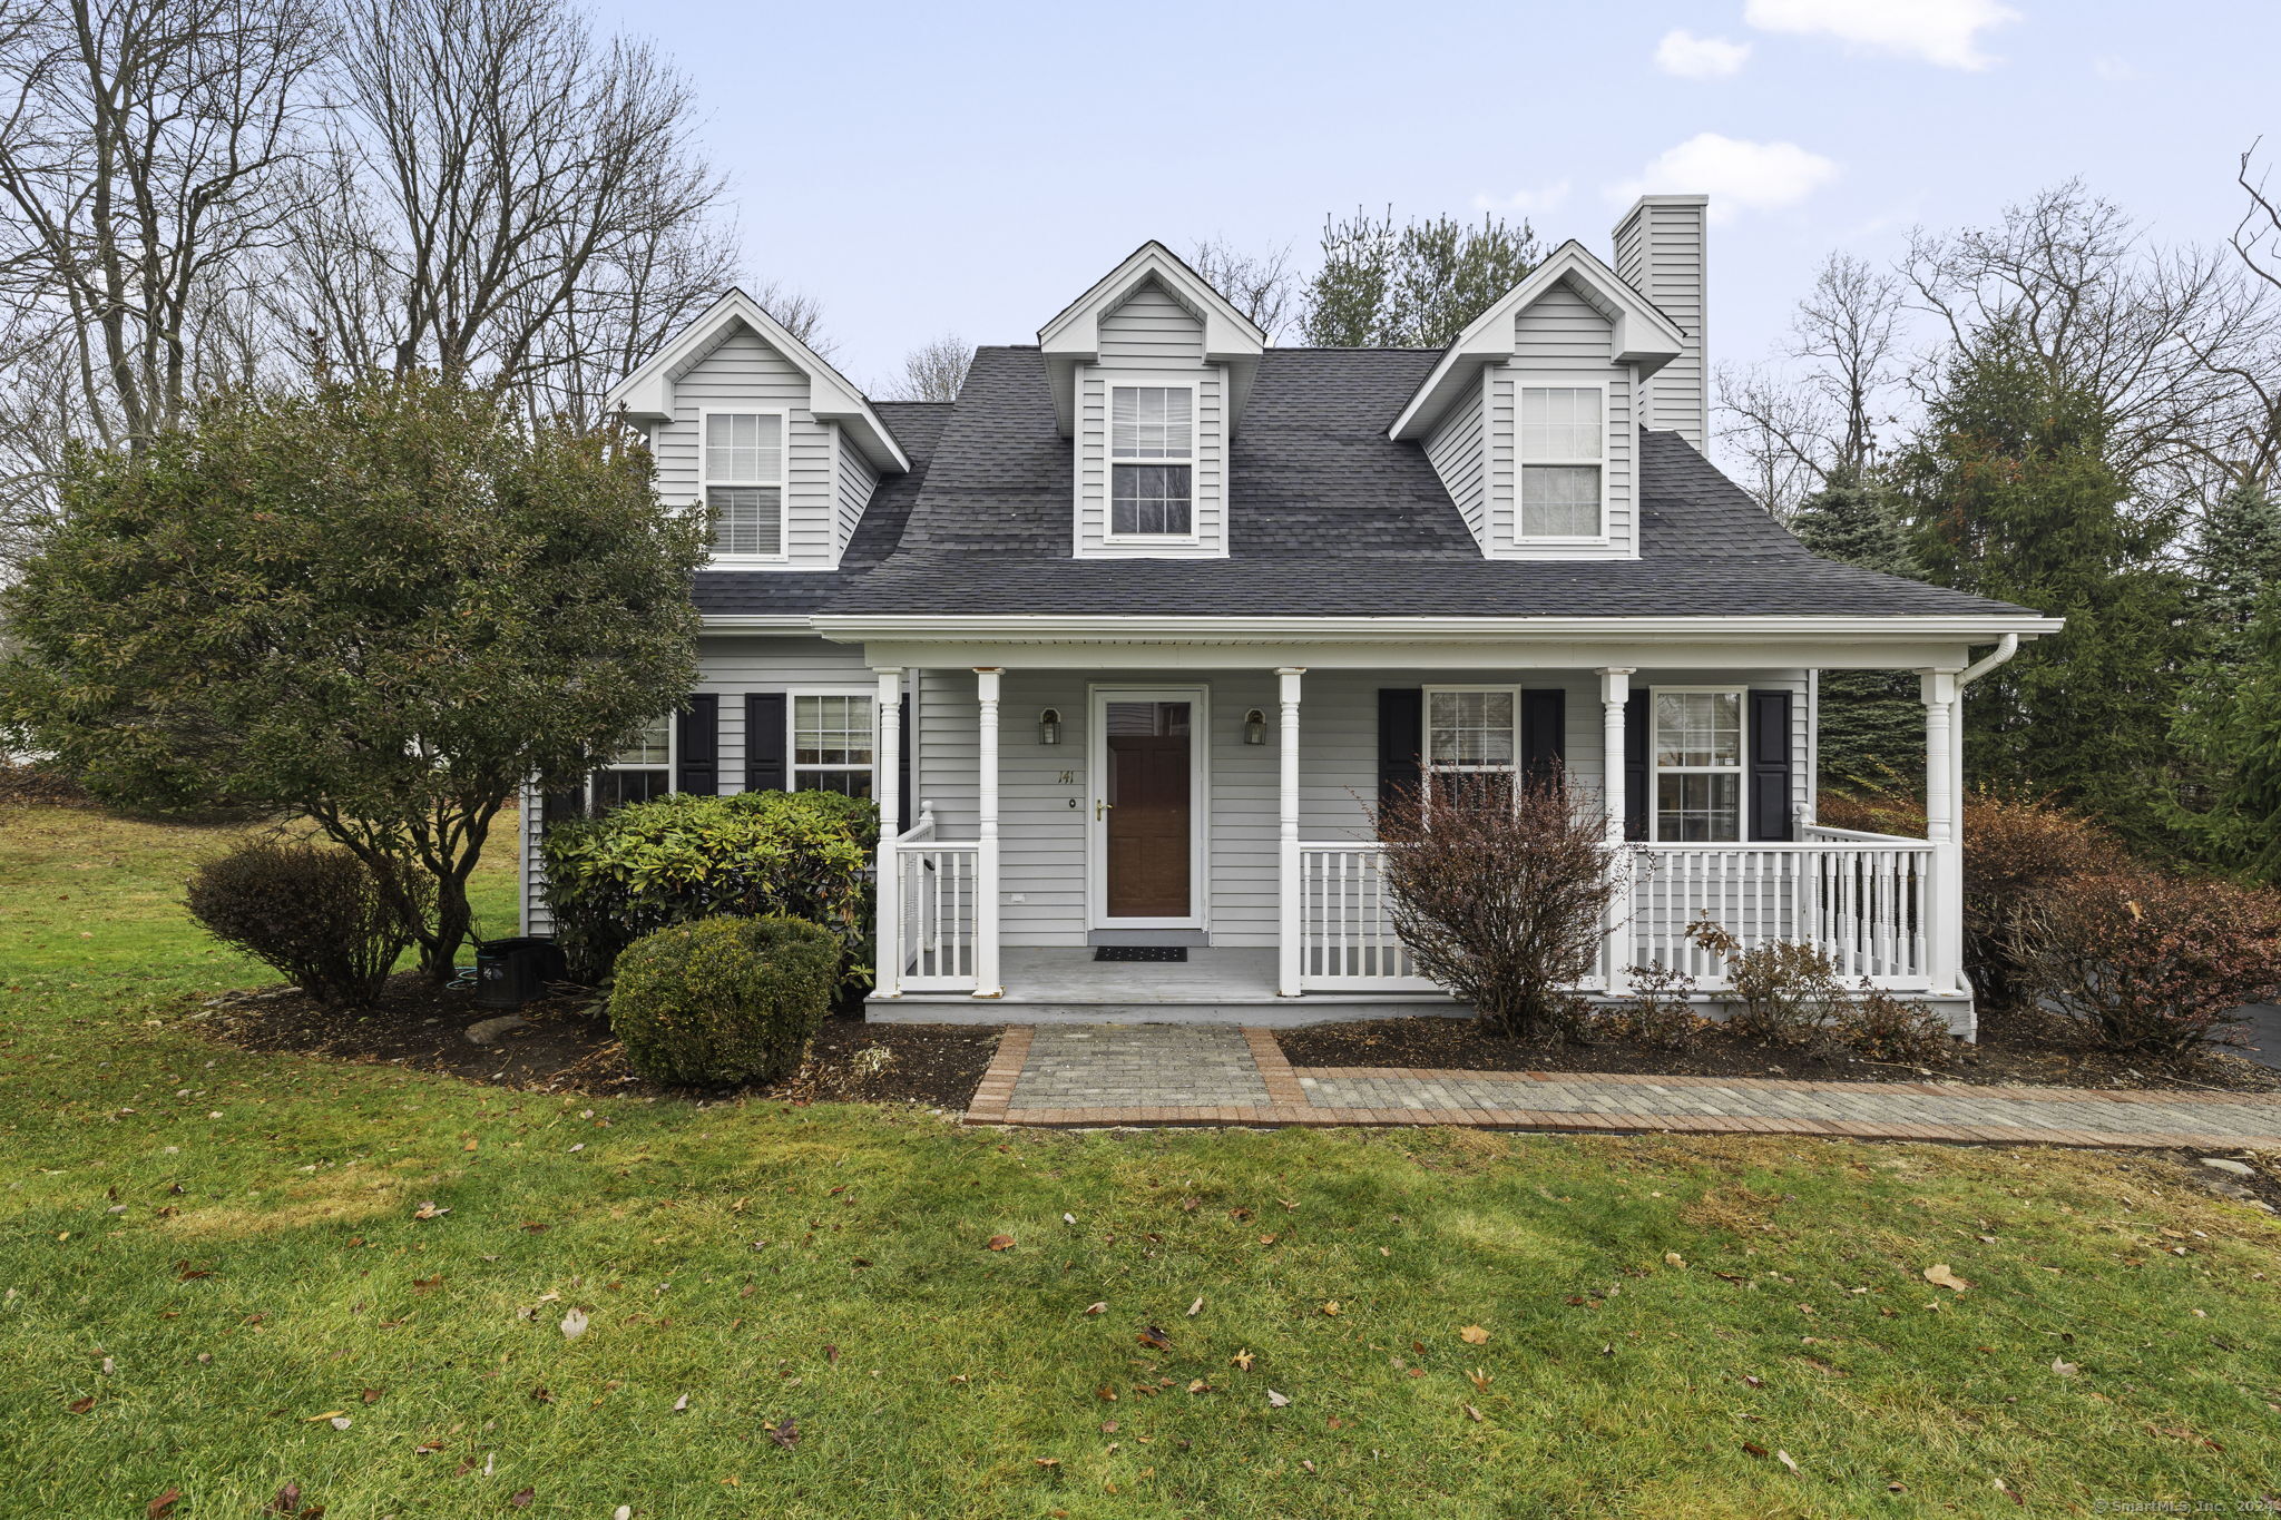
[[[1186,918],[1191,902],[1188,702],[1102,702],[1102,841],[1109,918]]]

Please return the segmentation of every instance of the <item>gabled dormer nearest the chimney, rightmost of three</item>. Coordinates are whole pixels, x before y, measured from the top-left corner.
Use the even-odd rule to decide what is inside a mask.
[[[1389,435],[1426,447],[1487,558],[1638,558],[1638,428],[1672,426],[1645,387],[1690,346],[1699,374],[1665,310],[1565,242],[1451,342]]]

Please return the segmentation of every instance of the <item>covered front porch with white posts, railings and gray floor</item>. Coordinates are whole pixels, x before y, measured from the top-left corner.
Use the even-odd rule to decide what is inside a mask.
[[[1079,652],[1024,670],[876,663],[880,750],[901,747],[910,702],[922,763],[915,818],[899,816],[894,795],[880,798],[878,966],[867,1016],[1286,1025],[1462,1012],[1417,973],[1394,934],[1382,850],[1371,839],[1371,798],[1389,763],[1389,700],[1462,690],[1510,695],[1492,700],[1496,722],[1510,709],[1510,743],[1492,759],[1521,766],[1549,750],[1606,809],[1606,848],[1620,857],[1626,889],[1581,994],[1622,996],[1631,969],[1663,964],[1715,998],[1720,964],[1686,937],[1695,918],[1711,916],[1745,946],[1813,943],[1850,984],[1946,1003],[1950,1023],[1971,1030],[1955,843],[1962,777],[1953,736],[1971,675],[1962,649],[1953,663],[1923,670],[1930,839],[1813,823],[1811,670],[1772,663],[1786,649],[1752,661],[1731,649],[1697,649],[1695,659],[1656,649],[1645,670],[1517,672],[1512,649],[1501,654],[1505,668],[1494,677],[1485,661],[1245,670],[1234,649],[1188,649],[1182,665],[1147,665],[1134,649],[1109,670],[1077,668]],[[1820,654],[1884,663],[1829,645]],[[1702,690],[1731,693],[1718,711],[1729,727],[1747,713],[1740,722],[1756,732],[1747,745],[1734,736],[1731,752],[1718,757],[1731,761],[1734,779],[1727,791],[1711,788],[1708,823],[1681,820],[1674,798],[1686,788],[1667,786],[1656,763],[1642,768],[1645,738],[1633,732],[1649,693]],[[1759,697],[1775,695],[1784,700],[1761,706]],[[1138,704],[1118,718],[1125,697]],[[1134,886],[1120,889],[1113,866],[1104,875],[1104,855],[1115,855],[1115,809],[1134,811],[1136,798],[1118,795],[1118,759],[1104,736],[1120,720],[1136,732],[1150,704],[1159,709],[1143,736],[1152,752],[1170,743],[1188,754],[1188,779],[1170,791],[1186,809],[1182,839],[1191,816],[1195,832],[1170,875],[1193,873],[1193,896],[1175,891],[1131,916],[1120,891],[1131,902]],[[1430,727],[1428,750],[1444,743],[1439,718]],[[1656,743],[1667,747],[1661,734]],[[937,754],[956,759],[935,763]],[[1147,763],[1161,766],[1161,754]],[[1681,823],[1713,836],[1665,836]],[[1166,880],[1150,891],[1166,891]],[[1182,946],[1188,959],[1099,962],[1093,946],[1102,943]]]

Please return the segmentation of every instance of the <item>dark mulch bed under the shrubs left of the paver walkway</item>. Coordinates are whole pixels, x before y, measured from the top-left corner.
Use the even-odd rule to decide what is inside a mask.
[[[588,987],[557,987],[552,996],[513,1010],[527,1023],[500,1032],[495,1044],[468,1039],[470,1025],[502,1012],[477,1007],[472,991],[401,973],[390,978],[381,1005],[365,1014],[322,1007],[294,987],[271,987],[214,998],[196,1016],[214,1037],[246,1051],[411,1067],[525,1092],[721,1096],[634,1076],[602,1016],[600,994]],[[792,1080],[748,1087],[744,1096],[965,1110],[997,1053],[999,1032],[995,1025],[835,1016]],[[887,1055],[860,1057],[864,1051]]]

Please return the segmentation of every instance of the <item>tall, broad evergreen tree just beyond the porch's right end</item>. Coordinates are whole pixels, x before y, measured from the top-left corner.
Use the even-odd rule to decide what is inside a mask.
[[[1984,330],[1943,374],[1896,479],[1930,581],[2067,618],[1971,688],[1978,779],[2057,795],[2160,836],[2169,722],[2190,659],[2178,510],[2110,463],[2083,387]]]

